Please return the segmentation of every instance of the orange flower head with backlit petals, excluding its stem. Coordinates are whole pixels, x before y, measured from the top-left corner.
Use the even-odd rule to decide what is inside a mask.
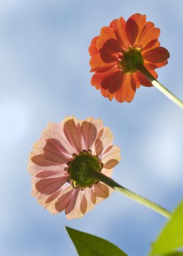
[[[89,47],[92,85],[104,97],[131,102],[136,88],[152,86],[138,70],[138,65],[157,78],[155,68],[168,63],[169,52],[160,47],[160,29],[146,21],[146,15],[133,14],[127,22],[120,17],[103,27]]]

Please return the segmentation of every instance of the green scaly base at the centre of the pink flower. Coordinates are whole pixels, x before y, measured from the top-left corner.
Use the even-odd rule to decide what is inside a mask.
[[[91,178],[90,173],[100,172],[102,166],[99,157],[93,156],[91,150],[83,150],[79,156],[74,155],[74,160],[68,163],[68,173],[70,174],[68,182],[72,183],[74,188],[92,187],[99,180]]]

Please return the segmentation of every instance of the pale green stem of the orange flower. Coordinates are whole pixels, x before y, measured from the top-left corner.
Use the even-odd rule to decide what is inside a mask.
[[[148,72],[147,68],[144,67],[143,64],[138,64],[138,70],[152,83],[160,92],[163,92],[166,97],[168,97],[171,101],[177,104],[180,108],[183,108],[182,100],[178,99],[173,93],[171,93],[168,89],[166,89],[163,84],[159,83],[150,72]]]

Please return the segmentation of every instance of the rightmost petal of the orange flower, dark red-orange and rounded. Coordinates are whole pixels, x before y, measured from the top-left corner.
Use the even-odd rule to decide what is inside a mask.
[[[164,47],[157,47],[142,54],[144,60],[152,63],[160,63],[170,57],[169,52]]]

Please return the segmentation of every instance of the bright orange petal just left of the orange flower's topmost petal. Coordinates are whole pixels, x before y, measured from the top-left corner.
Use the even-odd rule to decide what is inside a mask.
[[[125,31],[126,22],[123,17],[120,19],[115,19],[111,22],[110,27],[114,29],[116,38],[123,50],[128,49],[130,47],[129,39],[127,38],[127,33]]]

